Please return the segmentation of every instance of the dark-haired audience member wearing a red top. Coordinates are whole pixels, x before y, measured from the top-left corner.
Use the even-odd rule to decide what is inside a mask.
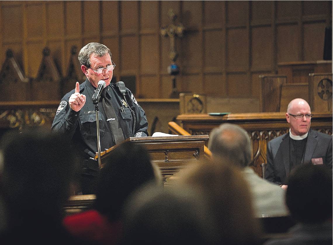
[[[159,169],[150,162],[144,147],[123,143],[101,169],[95,209],[65,217],[64,224],[75,236],[99,244],[115,244],[122,224],[119,220],[127,197],[146,182],[162,186]]]

